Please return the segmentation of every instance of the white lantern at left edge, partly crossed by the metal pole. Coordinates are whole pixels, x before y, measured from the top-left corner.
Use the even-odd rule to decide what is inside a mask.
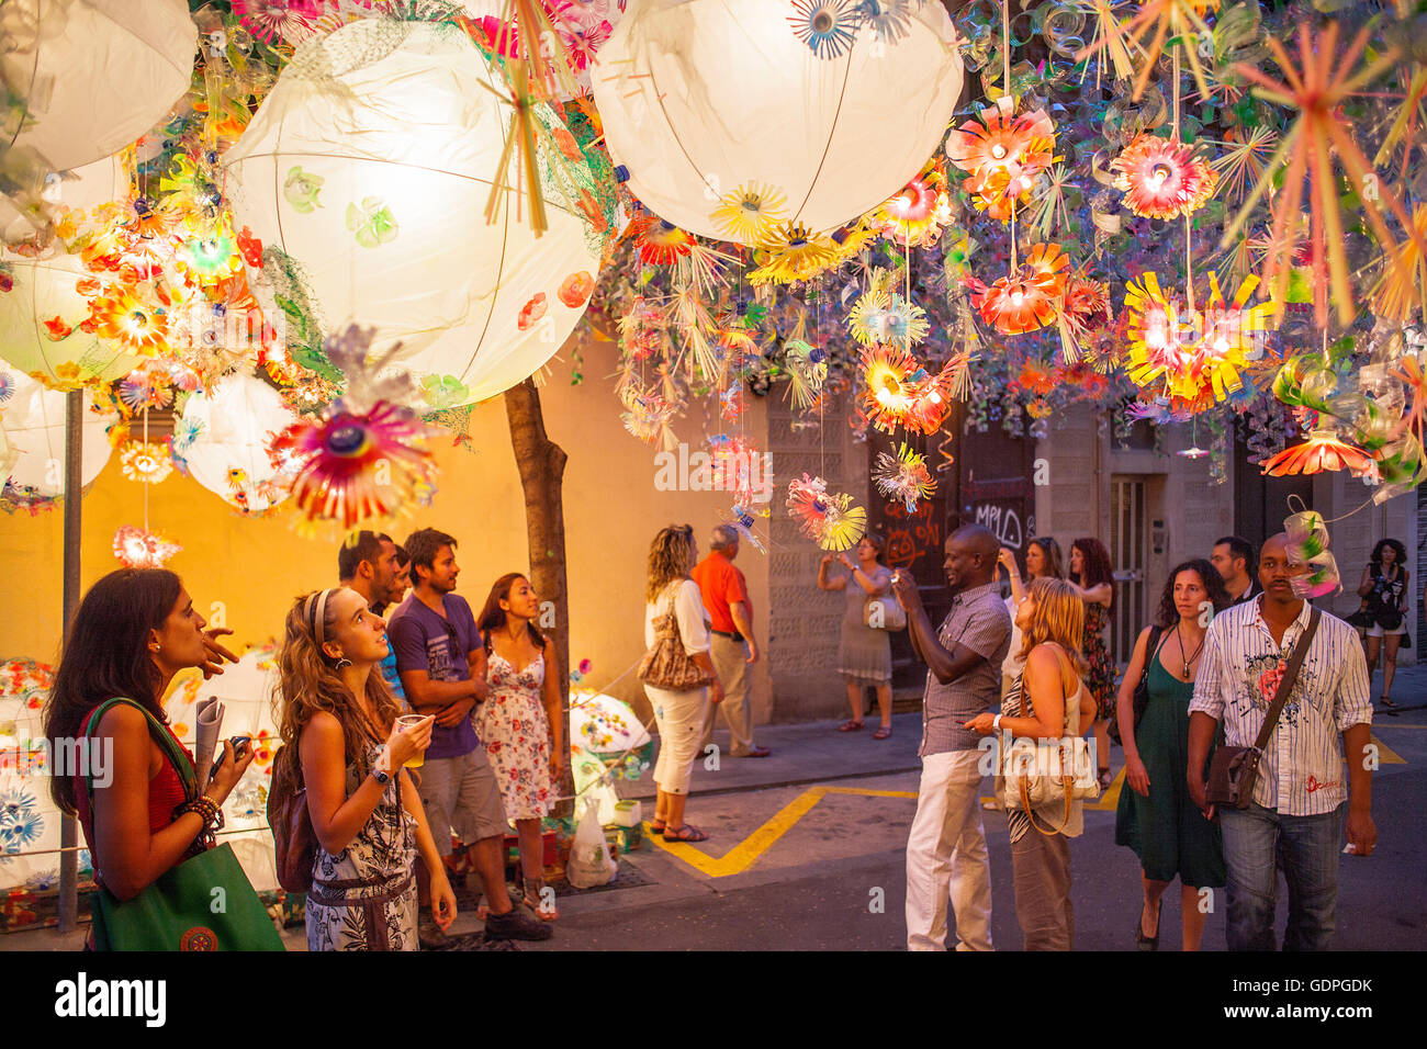
[[[16,368],[0,368],[0,427],[16,455],[7,478],[14,495],[53,500],[64,494],[64,402],[66,395],[46,390]],[[84,394],[81,434],[84,455],[80,478],[88,485],[108,462],[108,437],[103,417],[90,411],[93,398]]]

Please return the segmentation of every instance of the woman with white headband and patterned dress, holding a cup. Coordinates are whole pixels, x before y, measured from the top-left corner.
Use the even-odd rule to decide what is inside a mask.
[[[402,772],[425,752],[434,719],[395,724],[397,699],[380,669],[385,635],[385,621],[347,587],[307,594],[287,615],[277,761],[301,764],[317,836],[308,951],[417,951],[418,849],[437,925],[455,919],[445,865]]]

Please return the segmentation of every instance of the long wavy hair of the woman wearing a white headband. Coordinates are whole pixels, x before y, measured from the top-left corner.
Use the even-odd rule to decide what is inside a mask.
[[[337,628],[337,609],[331,597],[338,589],[341,588],[334,587],[327,592],[323,632],[328,639],[332,638]],[[273,715],[285,744],[283,756],[287,761],[297,761],[297,741],[307,722],[318,711],[327,711],[342,726],[342,749],[347,764],[351,764],[360,761],[365,754],[371,731],[357,696],[337,672],[337,664],[317,644],[313,624],[317,609],[314,607],[308,612],[307,602],[320,592],[304,594],[287,614],[287,634],[278,655],[280,681],[277,695],[273,696]],[[318,599],[317,604],[321,601]],[[371,729],[382,734],[381,739],[377,741],[382,742],[391,732],[391,725],[401,708],[377,667],[367,675],[367,701],[377,714],[377,724],[371,725]]]

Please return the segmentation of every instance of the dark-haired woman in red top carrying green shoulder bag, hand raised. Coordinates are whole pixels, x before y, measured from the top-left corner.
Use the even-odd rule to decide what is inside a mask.
[[[207,678],[237,662],[218,644],[233,631],[205,627],[163,568],[110,572],[70,624],[44,734],[50,754],[77,759],[54,769],[50,789],[78,816],[94,858],[87,951],[283,949],[233,849],[214,848],[223,802],[255,752],[224,742],[204,785],[163,708],[180,671]],[[214,888],[224,889],[221,913],[210,908]]]

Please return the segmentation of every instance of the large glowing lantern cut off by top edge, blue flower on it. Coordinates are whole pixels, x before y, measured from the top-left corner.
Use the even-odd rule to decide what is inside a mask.
[[[955,39],[938,3],[645,0],[591,80],[634,194],[752,244],[843,225],[920,171],[960,96]]]

